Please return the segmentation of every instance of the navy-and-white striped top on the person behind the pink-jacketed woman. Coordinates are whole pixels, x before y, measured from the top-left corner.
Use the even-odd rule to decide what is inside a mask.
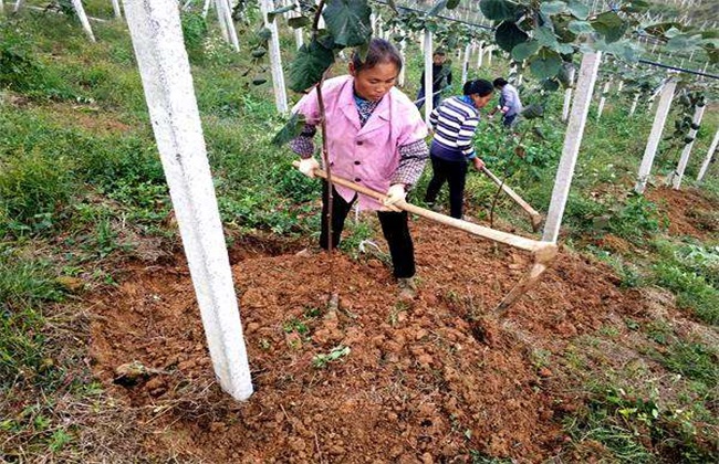
[[[431,155],[450,161],[477,156],[472,138],[479,124],[479,110],[468,96],[444,101],[429,115],[429,124],[435,129]]]

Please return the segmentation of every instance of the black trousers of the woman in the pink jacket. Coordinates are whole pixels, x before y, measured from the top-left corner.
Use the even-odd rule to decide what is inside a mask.
[[[336,249],[340,244],[340,236],[344,229],[344,221],[352,209],[352,204],[357,196],[351,202],[346,202],[340,193],[332,188],[332,247]],[[322,228],[320,232],[320,246],[327,250],[330,240],[327,231],[327,182],[322,182]],[[394,275],[397,278],[407,278],[415,275],[415,245],[409,235],[408,214],[406,211],[377,211],[382,232],[389,245]]]

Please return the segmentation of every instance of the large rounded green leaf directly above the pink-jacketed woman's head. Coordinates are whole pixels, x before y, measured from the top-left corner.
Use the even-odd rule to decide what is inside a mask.
[[[369,42],[372,9],[367,0],[330,0],[322,11],[327,31],[334,36],[334,43],[344,46],[357,46]]]

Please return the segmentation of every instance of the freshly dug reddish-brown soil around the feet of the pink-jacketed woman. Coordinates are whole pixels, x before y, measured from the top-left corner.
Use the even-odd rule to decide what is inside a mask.
[[[559,453],[561,416],[581,400],[536,355],[637,314],[640,298],[622,293],[605,266],[564,251],[499,320],[491,309],[531,256],[424,220],[411,230],[411,302],[397,298],[376,257],[232,254],[256,389],[243,403],[212,381],[186,266],[135,266],[93,309],[92,359],[111,394],[139,411],[148,456],[427,463]],[[350,351],[317,357],[336,347]],[[113,383],[131,361],[147,371]]]

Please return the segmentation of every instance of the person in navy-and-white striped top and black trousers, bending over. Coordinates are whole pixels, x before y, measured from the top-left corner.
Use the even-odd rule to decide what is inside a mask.
[[[472,139],[479,124],[479,110],[489,103],[493,92],[489,81],[468,81],[462,88],[463,95],[445,99],[429,115],[435,137],[429,148],[433,177],[425,202],[434,207],[439,190],[447,182],[452,218],[462,219],[467,161],[477,170],[484,166],[475,152]]]

